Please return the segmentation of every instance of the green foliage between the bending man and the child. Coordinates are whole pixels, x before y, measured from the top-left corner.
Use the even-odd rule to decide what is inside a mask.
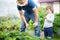
[[[46,13],[46,9],[45,8],[38,8],[38,14],[39,14],[39,20],[40,20],[40,27],[41,27],[41,30],[42,30],[42,27],[44,25],[44,16],[47,15]]]

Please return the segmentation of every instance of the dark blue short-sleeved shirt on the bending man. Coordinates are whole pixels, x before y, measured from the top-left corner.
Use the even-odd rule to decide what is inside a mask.
[[[28,5],[27,6],[17,5],[18,10],[23,9],[25,12],[27,12],[29,14],[34,13],[33,10],[32,10],[34,7],[37,7],[37,6],[32,0],[28,0]]]

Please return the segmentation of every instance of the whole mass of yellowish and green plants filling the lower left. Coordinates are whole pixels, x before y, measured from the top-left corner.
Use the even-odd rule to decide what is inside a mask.
[[[0,40],[40,40],[26,32],[21,33],[19,31],[20,23],[19,18],[0,17]]]

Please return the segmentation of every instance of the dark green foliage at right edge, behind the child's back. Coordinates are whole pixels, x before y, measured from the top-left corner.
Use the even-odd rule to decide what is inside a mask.
[[[58,34],[60,34],[60,13],[59,14],[55,14],[55,20],[54,20],[54,32],[58,32]]]

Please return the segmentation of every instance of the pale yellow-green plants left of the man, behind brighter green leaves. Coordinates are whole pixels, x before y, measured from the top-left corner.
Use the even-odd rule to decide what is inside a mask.
[[[11,17],[0,17],[0,30],[4,29],[13,30],[18,29],[20,25],[20,20]],[[16,28],[17,27],[17,28]]]

